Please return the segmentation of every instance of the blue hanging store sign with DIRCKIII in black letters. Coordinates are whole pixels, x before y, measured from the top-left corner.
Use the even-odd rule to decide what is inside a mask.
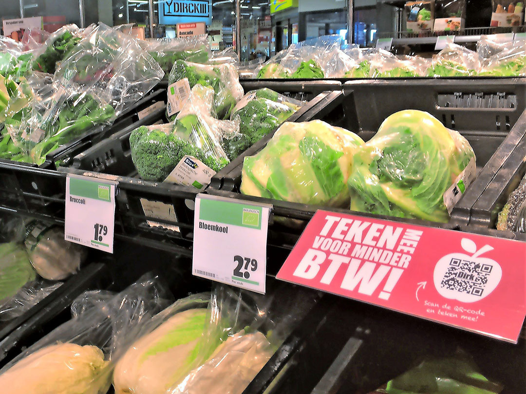
[[[159,2],[159,24],[212,23],[212,4],[210,0],[166,0]]]

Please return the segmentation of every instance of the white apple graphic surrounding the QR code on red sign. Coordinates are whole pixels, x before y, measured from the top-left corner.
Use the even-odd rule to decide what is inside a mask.
[[[479,250],[477,250],[477,245],[468,238],[462,238],[460,244],[465,252],[471,253],[471,256],[461,252],[455,252],[441,257],[434,266],[433,283],[434,287],[437,289],[437,292],[444,298],[456,299],[462,303],[474,303],[489,296],[494,291],[494,289],[497,288],[502,278],[502,267],[498,262],[492,260],[491,258],[480,257],[482,254],[492,251],[492,246],[484,245]],[[442,287],[442,279],[446,275],[446,272],[448,271],[448,268],[451,265],[450,263],[453,259],[457,259],[459,263],[461,261],[469,261],[479,263],[481,265],[484,264],[491,266],[490,272],[487,275],[488,282],[485,284],[480,295],[458,292],[456,290]]]

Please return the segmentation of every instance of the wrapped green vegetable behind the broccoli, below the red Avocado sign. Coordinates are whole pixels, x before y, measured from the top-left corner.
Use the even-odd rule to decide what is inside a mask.
[[[143,47],[168,74],[177,60],[206,64],[211,57],[206,37],[161,38],[145,42]]]

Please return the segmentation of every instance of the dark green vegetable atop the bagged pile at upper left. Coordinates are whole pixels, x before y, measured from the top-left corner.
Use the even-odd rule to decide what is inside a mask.
[[[35,52],[33,69],[53,74],[58,61],[80,42],[80,30],[76,25],[66,25],[50,35],[44,45]]]

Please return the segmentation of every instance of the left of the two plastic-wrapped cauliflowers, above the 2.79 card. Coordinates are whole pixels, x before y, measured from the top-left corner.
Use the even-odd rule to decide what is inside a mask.
[[[267,146],[246,157],[241,193],[264,198],[340,206],[349,201],[347,179],[354,133],[321,120],[285,122]]]

